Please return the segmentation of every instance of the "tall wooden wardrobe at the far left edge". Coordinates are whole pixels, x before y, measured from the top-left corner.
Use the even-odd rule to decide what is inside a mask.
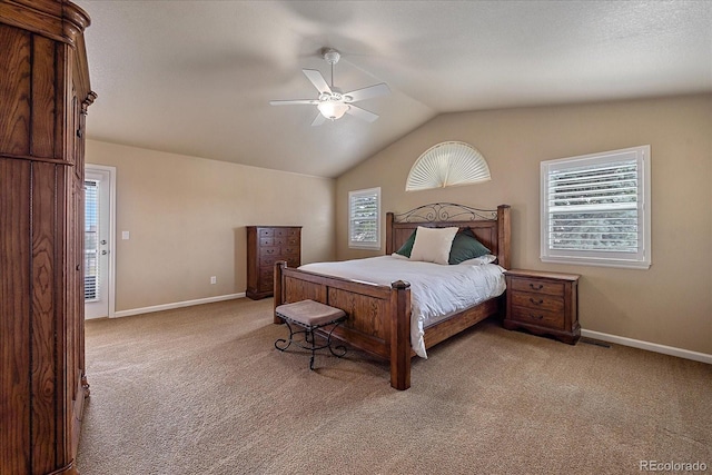
[[[89,17],[0,0],[0,474],[76,474]]]

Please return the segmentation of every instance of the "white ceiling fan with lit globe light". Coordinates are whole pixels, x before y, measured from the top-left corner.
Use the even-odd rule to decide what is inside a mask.
[[[378,115],[373,113],[366,109],[355,106],[354,102],[364,99],[370,99],[378,96],[387,96],[390,93],[390,89],[385,82],[379,85],[369,86],[363,89],[356,89],[350,92],[342,92],[338,88],[334,87],[334,65],[336,65],[342,55],[333,48],[323,48],[322,57],[332,65],[332,85],[329,86],[324,76],[316,69],[303,69],[301,71],[307,77],[314,87],[319,91],[318,99],[296,99],[296,100],[271,100],[271,106],[291,106],[291,105],[309,105],[316,106],[319,109],[319,113],[316,116],[313,126],[320,126],[326,119],[336,120],[344,117],[344,113],[350,113],[354,117],[358,117],[368,122],[373,122],[378,118]]]

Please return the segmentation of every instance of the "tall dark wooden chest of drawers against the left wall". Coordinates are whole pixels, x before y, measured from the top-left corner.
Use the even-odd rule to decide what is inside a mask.
[[[301,264],[300,226],[247,227],[247,296],[270,297],[274,291],[275,263],[286,260],[288,267]]]

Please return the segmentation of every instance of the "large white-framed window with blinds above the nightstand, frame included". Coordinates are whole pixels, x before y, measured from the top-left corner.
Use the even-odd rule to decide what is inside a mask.
[[[541,258],[646,269],[650,146],[541,164]]]

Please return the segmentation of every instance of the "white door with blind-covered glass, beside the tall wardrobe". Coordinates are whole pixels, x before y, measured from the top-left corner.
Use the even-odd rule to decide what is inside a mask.
[[[85,168],[85,318],[113,316],[113,167]]]

